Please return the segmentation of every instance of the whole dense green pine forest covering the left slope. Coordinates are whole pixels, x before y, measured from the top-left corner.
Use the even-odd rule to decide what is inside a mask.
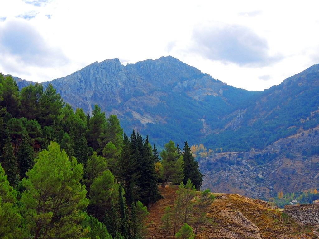
[[[186,139],[158,152],[99,105],[74,111],[52,85],[19,91],[2,74],[0,114],[0,238],[144,238],[168,182],[180,186],[163,230],[184,238],[192,214],[197,233],[213,196],[195,191],[204,175]]]

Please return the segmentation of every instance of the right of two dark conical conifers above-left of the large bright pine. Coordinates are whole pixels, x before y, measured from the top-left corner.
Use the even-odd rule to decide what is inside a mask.
[[[20,176],[26,177],[26,172],[33,166],[33,149],[28,144],[26,135],[22,135],[22,141],[17,151],[17,160],[20,168]]]

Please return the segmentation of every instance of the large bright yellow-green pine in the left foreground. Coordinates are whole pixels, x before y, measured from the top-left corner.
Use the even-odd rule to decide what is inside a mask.
[[[81,210],[88,205],[85,186],[80,184],[82,164],[74,157],[69,160],[65,151],[51,141],[26,175],[21,203],[32,237],[78,238],[79,222],[84,219]]]

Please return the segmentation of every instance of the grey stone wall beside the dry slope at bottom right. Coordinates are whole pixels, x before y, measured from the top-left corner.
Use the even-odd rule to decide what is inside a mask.
[[[285,213],[308,225],[319,225],[319,205],[285,205]]]

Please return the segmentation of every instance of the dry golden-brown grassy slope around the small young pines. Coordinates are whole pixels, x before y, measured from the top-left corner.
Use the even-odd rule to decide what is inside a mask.
[[[151,208],[149,218],[153,224],[149,228],[147,238],[167,238],[159,228],[162,225],[160,218],[164,214],[165,207],[174,204],[176,190],[172,187],[160,189],[165,199]],[[214,193],[214,195],[218,197],[207,211],[209,220],[200,226],[196,239],[316,238],[312,233],[314,227],[297,224],[281,210],[273,210],[261,200],[249,199],[238,194]]]

